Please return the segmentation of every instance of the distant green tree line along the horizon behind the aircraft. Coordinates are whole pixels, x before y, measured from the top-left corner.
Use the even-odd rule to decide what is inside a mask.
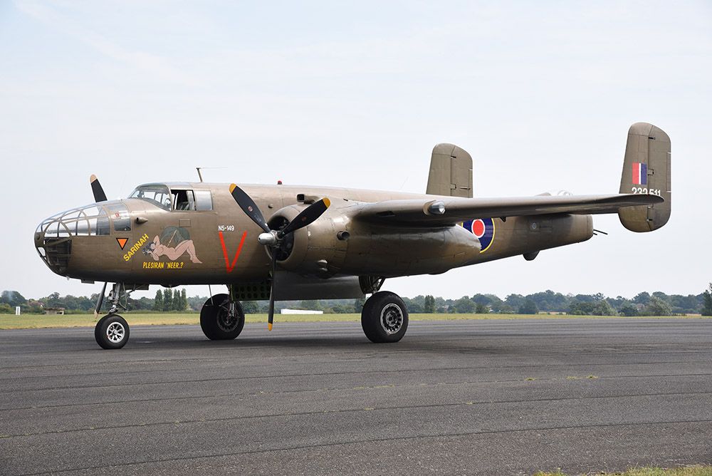
[[[91,296],[60,296],[53,293],[38,299],[25,299],[17,291],[3,291],[0,295],[0,314],[13,314],[15,306],[23,313],[42,314],[48,308],[63,308],[68,313],[86,313],[94,310],[98,294]],[[132,311],[140,312],[199,312],[207,300],[204,296],[188,297],[186,290],[159,289],[153,299],[142,297],[129,299]],[[671,316],[674,314],[702,314],[712,316],[712,283],[701,294],[652,294],[642,291],[631,299],[598,294],[561,294],[543,291],[526,296],[509,294],[501,299],[495,294],[473,294],[460,299],[445,299],[440,296],[415,296],[403,298],[408,311],[414,314],[459,313],[459,314],[537,314],[561,313],[592,316]],[[326,314],[360,313],[363,299],[323,299],[316,301],[281,301],[276,310],[310,309]],[[110,303],[104,301],[103,311]],[[244,301],[246,314],[264,314],[267,301]]]

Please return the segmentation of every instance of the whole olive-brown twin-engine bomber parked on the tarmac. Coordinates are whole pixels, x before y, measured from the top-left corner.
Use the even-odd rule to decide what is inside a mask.
[[[408,328],[402,299],[380,291],[387,278],[440,274],[583,242],[592,214],[617,213],[624,227],[651,232],[670,217],[670,139],[654,125],[628,131],[618,195],[473,198],[472,159],[451,144],[433,149],[426,195],[333,187],[151,183],[44,220],[34,234],[56,274],[104,281],[109,314],[95,328],[103,348],[121,348],[127,297],[150,284],[225,284],[200,311],[209,339],[233,339],[245,324],[240,301],[362,298],[372,342],[397,342]],[[123,301],[122,301],[123,299]]]

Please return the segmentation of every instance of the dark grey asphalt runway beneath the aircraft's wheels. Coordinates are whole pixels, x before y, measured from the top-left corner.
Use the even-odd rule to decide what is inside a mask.
[[[129,319],[130,322],[130,319]],[[532,474],[712,463],[711,319],[0,331],[0,474]]]

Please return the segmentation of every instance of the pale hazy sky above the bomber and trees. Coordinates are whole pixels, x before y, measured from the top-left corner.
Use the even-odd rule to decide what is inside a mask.
[[[424,192],[431,148],[451,142],[479,197],[611,193],[644,121],[672,141],[663,229],[597,216],[608,236],[384,289],[697,294],[712,281],[711,110],[703,1],[0,1],[0,289],[100,289],[53,274],[32,243],[43,218],[93,200],[92,173],[110,198],[197,166]]]

